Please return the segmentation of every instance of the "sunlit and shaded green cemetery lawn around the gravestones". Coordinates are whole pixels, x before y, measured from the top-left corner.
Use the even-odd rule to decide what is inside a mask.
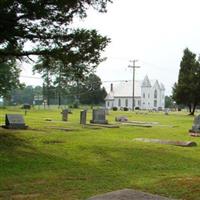
[[[83,128],[80,110],[73,110],[68,122],[60,121],[60,112],[30,110],[24,116],[28,130],[0,128],[0,199],[83,200],[123,188],[200,199],[200,138],[188,136],[193,117],[187,113],[112,111],[107,116],[110,123],[125,115],[159,126]],[[1,124],[5,113],[24,115],[21,109],[2,109]],[[89,119],[91,110],[88,123]],[[195,141],[198,146],[143,143],[135,138]]]

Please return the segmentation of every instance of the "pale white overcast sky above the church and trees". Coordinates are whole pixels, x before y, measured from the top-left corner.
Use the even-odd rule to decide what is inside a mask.
[[[132,79],[129,60],[137,59],[141,68],[136,70],[136,79],[147,74],[163,82],[170,94],[183,50],[188,47],[200,53],[199,19],[199,0],[113,0],[107,13],[90,10],[86,19],[74,25],[97,29],[111,38],[103,54],[107,60],[97,68],[102,81]],[[24,67],[22,75],[30,71]],[[35,80],[23,79],[27,84],[40,83]]]

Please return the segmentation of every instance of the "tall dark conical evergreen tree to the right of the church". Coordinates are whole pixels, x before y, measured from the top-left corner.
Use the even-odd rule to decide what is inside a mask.
[[[178,82],[173,87],[173,99],[177,104],[189,107],[190,115],[194,115],[200,103],[200,63],[196,54],[189,49],[184,50],[180,63]]]

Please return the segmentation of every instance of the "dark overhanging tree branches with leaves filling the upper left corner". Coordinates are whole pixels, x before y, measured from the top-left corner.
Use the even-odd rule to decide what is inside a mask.
[[[72,29],[71,24],[75,17],[86,17],[89,7],[106,12],[108,2],[111,0],[0,1],[0,61],[43,55],[71,68],[77,63],[98,65],[109,39],[96,30]],[[33,48],[25,50],[27,42]]]

